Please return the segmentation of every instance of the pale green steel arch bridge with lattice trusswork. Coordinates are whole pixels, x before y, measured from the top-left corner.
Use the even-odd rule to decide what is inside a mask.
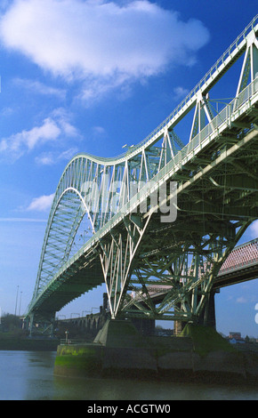
[[[45,230],[31,326],[51,324],[56,311],[102,283],[111,318],[198,321],[223,262],[258,218],[257,35],[258,15],[173,113],[125,154],[72,158]],[[234,98],[213,101],[214,85],[239,60]],[[176,131],[191,112],[182,141]],[[85,230],[92,237],[75,252]],[[151,285],[171,286],[158,305]]]

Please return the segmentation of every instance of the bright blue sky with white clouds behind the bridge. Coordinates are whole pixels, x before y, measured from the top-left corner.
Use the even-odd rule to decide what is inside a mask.
[[[18,285],[20,313],[28,306],[52,195],[69,159],[77,152],[114,157],[143,140],[256,13],[254,0],[2,0],[2,312],[14,312]],[[237,90],[239,65],[216,98]],[[257,236],[254,223],[241,242]],[[98,307],[102,291],[61,313]],[[223,289],[218,330],[258,336],[257,302],[257,280]]]

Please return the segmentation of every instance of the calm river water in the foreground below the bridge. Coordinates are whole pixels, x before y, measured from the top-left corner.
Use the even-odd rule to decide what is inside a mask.
[[[0,351],[0,400],[258,400],[238,385],[68,379],[53,375],[55,352]]]

